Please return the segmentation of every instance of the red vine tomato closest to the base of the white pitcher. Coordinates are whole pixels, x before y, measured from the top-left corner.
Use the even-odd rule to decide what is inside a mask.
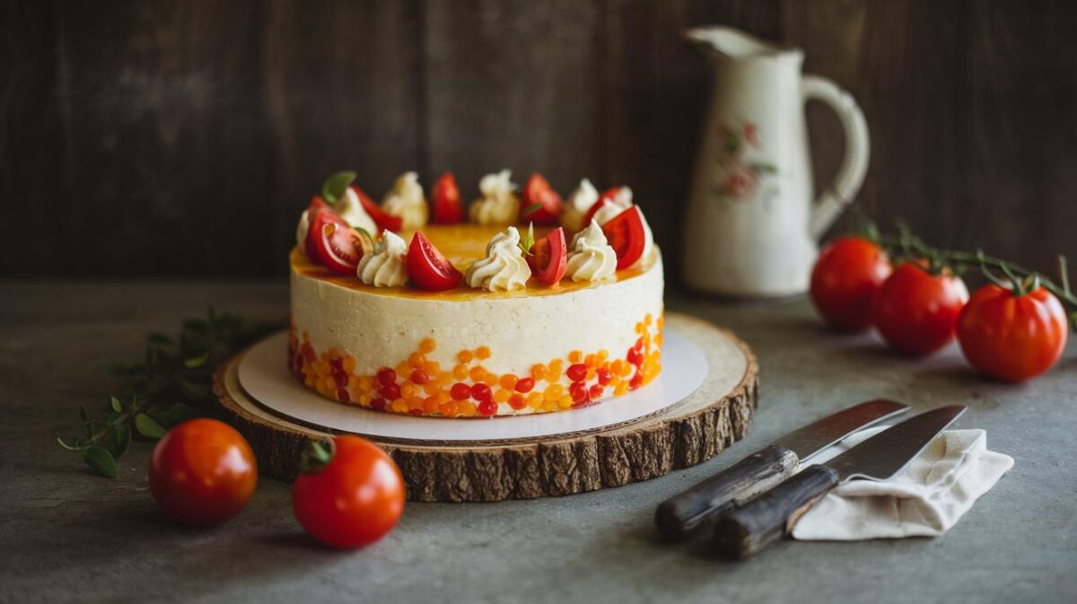
[[[811,272],[811,299],[827,323],[861,332],[871,326],[871,298],[894,268],[886,253],[859,237],[827,245]]]

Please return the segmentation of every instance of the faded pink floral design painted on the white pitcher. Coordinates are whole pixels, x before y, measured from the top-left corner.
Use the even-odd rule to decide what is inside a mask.
[[[752,122],[732,122],[718,126],[715,150],[715,195],[730,201],[751,201],[760,191],[766,174],[778,170],[766,161],[749,156],[759,149],[758,128]],[[767,199],[777,195],[775,187],[767,189]]]

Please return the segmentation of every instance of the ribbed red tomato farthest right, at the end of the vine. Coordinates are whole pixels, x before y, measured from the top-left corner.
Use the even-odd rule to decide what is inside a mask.
[[[1050,369],[1066,348],[1062,303],[1038,287],[1023,296],[994,283],[973,293],[957,319],[957,342],[976,370],[1022,381]]]

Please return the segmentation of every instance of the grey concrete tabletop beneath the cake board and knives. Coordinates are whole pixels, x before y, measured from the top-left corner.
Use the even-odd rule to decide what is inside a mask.
[[[876,336],[825,331],[803,300],[670,309],[732,328],[760,362],[747,436],[717,458],[648,482],[496,504],[409,504],[376,545],[331,551],[304,535],[290,484],[263,477],[249,507],[196,531],[166,520],[146,487],[149,443],[95,476],[56,446],[108,368],[144,334],[208,306],[283,318],[279,283],[0,284],[2,602],[1073,602],[1077,593],[1077,346],[1049,374],[1009,385],[977,377],[955,345],[929,359]],[[1015,467],[948,534],[788,542],[744,563],[704,544],[660,543],[665,497],[770,439],[866,398],[924,409],[968,405],[961,427]]]

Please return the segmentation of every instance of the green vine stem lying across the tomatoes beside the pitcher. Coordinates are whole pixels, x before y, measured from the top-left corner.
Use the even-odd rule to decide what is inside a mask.
[[[1069,323],[1073,329],[1077,331],[1077,295],[1069,289],[1065,256],[1059,256],[1059,281],[1055,283],[1040,272],[1003,258],[989,256],[982,250],[969,253],[932,248],[909,233],[908,228],[900,228],[898,235],[886,235],[879,233],[878,228],[869,226],[865,233],[868,239],[878,243],[896,263],[926,261],[928,270],[936,275],[945,269],[962,272],[969,268],[978,268],[984,277],[998,285],[1011,287],[1013,293],[1019,296],[1037,287],[1044,287],[1071,309]],[[995,271],[1002,272],[1004,278],[999,278]]]

